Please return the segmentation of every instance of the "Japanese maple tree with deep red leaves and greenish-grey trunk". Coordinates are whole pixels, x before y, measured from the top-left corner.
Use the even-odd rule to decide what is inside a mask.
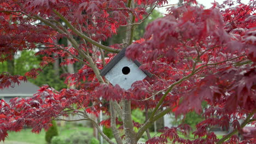
[[[0,61],[38,47],[36,56],[42,56],[42,68],[24,76],[0,74],[0,89],[36,77],[57,58],[64,59],[61,65],[83,63],[76,73],[62,75],[75,88],[56,91],[44,85],[33,97],[14,98],[10,104],[1,100],[0,140],[25,125],[33,133],[48,130],[53,119],[68,121],[60,116],[73,114],[94,123],[108,143],[115,142],[100,125],[111,127],[118,144],[134,144],[160,117],[195,111],[205,119],[192,131],[194,139],[179,137],[191,131],[181,124],[162,129],[160,136],[149,136],[146,143],[256,143],[255,136],[250,141],[237,137],[237,131],[256,119],[256,2],[225,1],[213,3],[210,9],[188,0],[179,7],[168,5],[168,14],[149,23],[144,37],[133,41],[135,27],[151,14],[146,9],[165,4],[167,0],[0,1]],[[102,45],[119,27],[126,27],[123,44]],[[72,46],[57,44],[60,38]],[[137,59],[143,63],[141,69],[154,75],[133,83],[127,91],[100,75],[124,47],[127,57]],[[203,110],[202,101],[208,105]],[[133,122],[131,110],[137,108],[151,111],[145,123]],[[100,111],[109,118],[98,123],[89,117]],[[233,130],[222,139],[208,130],[230,124]]]

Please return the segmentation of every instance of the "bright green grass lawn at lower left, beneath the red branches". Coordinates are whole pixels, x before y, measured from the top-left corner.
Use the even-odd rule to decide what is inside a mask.
[[[87,131],[89,134],[92,134],[92,128],[85,127],[58,127],[59,135],[63,137],[68,137],[75,131]],[[5,139],[5,143],[15,143],[15,142],[26,142],[26,143],[35,143],[35,144],[45,144],[45,131],[42,130],[40,134],[35,134],[31,132],[30,128],[23,129],[19,132],[10,131],[8,133],[8,138]],[[1,142],[2,144],[2,142]],[[17,143],[18,144],[18,143]]]

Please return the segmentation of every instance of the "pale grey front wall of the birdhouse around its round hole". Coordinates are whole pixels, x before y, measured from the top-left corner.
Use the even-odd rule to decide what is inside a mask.
[[[121,88],[127,90],[131,88],[132,83],[143,80],[146,76],[147,75],[139,69],[133,61],[127,57],[123,57],[108,71],[105,78],[112,83],[113,86],[119,85]]]

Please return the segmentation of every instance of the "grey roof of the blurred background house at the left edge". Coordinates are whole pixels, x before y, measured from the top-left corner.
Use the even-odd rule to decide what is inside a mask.
[[[31,82],[20,82],[15,87],[4,88],[0,90],[0,97],[31,97],[39,89],[38,86]]]

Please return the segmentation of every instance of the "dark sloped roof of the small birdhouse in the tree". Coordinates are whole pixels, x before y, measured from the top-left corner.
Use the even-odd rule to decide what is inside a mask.
[[[126,48],[122,49],[105,67],[101,70],[101,76],[104,76],[108,73],[110,69],[114,67],[115,64],[117,64],[121,58],[125,56]],[[141,63],[139,63],[137,60],[133,61],[138,67],[141,66]],[[142,70],[148,77],[152,77],[153,75],[149,73],[147,70]]]

